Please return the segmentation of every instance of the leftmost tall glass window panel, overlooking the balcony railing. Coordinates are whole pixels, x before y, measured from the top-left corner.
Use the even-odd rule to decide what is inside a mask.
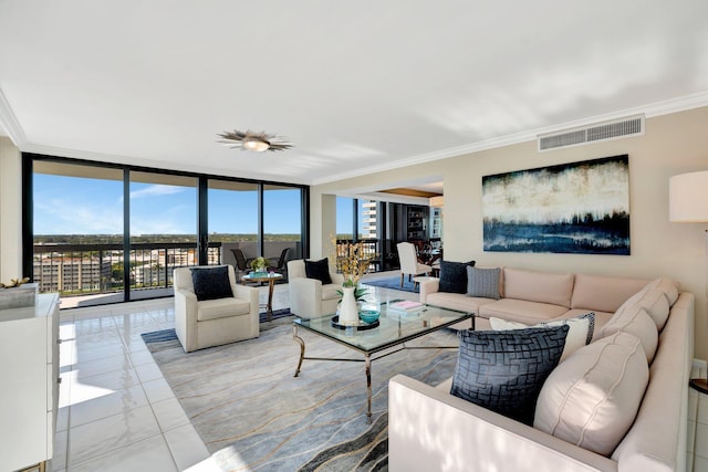
[[[123,171],[56,161],[34,162],[32,274],[62,306],[124,292]],[[73,303],[72,303],[73,302]]]

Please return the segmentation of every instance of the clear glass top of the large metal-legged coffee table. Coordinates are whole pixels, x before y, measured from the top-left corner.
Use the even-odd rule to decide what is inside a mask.
[[[470,319],[473,314],[456,310],[442,308],[434,305],[423,305],[420,310],[409,312],[393,310],[389,306],[399,300],[381,303],[378,326],[367,328],[362,325],[347,326],[345,329],[335,327],[332,323],[333,314],[317,318],[298,318],[293,323],[308,331],[345,344],[363,353],[376,353],[388,347],[424,336],[434,331]],[[471,323],[470,323],[471,326]]]

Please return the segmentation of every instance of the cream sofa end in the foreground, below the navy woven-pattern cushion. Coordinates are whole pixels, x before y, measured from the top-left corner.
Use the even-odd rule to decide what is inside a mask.
[[[388,469],[616,471],[617,463],[397,375],[388,384]]]

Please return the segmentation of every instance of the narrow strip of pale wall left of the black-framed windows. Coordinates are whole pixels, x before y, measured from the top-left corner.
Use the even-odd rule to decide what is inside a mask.
[[[9,138],[0,136],[0,282],[22,274],[22,160]]]

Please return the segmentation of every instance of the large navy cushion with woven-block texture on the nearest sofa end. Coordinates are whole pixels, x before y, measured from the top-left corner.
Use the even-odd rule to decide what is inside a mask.
[[[458,332],[450,394],[531,424],[543,381],[558,365],[568,326]]]

